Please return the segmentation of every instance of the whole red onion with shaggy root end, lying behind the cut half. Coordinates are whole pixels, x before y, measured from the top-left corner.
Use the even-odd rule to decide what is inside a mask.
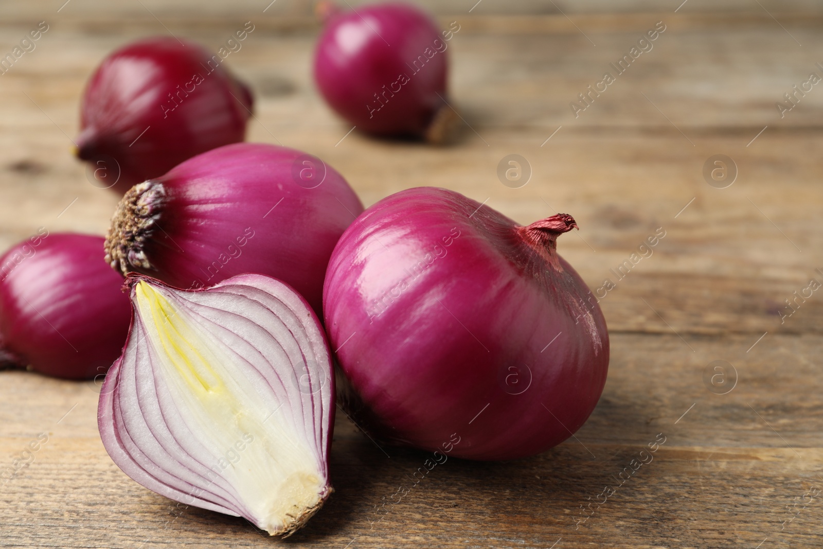
[[[106,261],[181,288],[259,272],[294,286],[319,314],[328,258],[362,211],[346,180],[314,156],[237,143],[130,189]]]

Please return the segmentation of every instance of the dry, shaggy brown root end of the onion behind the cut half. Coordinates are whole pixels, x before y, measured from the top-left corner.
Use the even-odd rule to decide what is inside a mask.
[[[128,189],[105,237],[105,260],[112,268],[123,274],[153,269],[144,248],[156,230],[164,205],[165,188],[157,179]]]

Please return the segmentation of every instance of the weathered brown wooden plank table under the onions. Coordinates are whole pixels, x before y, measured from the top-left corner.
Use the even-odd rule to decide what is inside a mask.
[[[437,149],[356,131],[343,139],[350,127],[311,81],[317,27],[305,9],[263,13],[267,2],[241,2],[226,16],[227,7],[221,14],[211,2],[214,9],[151,13],[116,4],[109,13],[76,2],[60,12],[63,0],[49,3],[44,15],[40,2],[2,7],[0,51],[37,21],[50,26],[0,76],[2,249],[39,226],[108,226],[117,198],[89,184],[69,140],[86,77],[105,54],[167,31],[216,49],[249,20],[253,35],[227,59],[258,97],[249,140],[320,156],[367,205],[437,185],[522,223],[570,212],[582,230],[561,238],[560,253],[593,289],[616,280],[610,268],[658,227],[666,231],[602,300],[611,369],[576,438],[509,463],[450,459],[381,508],[425,454],[380,449],[338,414],[337,491],[288,545],[823,545],[823,294],[781,322],[790,311],[784,300],[811,278],[823,281],[823,85],[783,118],[775,107],[810,72],[823,76],[820,12],[773,19],[760,7],[704,14],[686,4],[675,13],[680,2],[669,2],[660,13],[490,16],[482,9],[491,7],[469,14],[448,2],[454,15],[441,22],[461,25],[451,43],[451,93],[467,128],[457,145]],[[575,118],[570,101],[658,21],[666,30],[653,49]],[[522,188],[498,179],[509,154],[531,166]],[[727,188],[704,178],[704,163],[718,154],[737,166]],[[711,383],[718,372],[725,385]],[[0,466],[38,434],[49,437],[34,463],[0,487],[0,546],[281,543],[242,519],[176,509],[131,481],[100,443],[96,402],[91,383],[0,373]],[[665,444],[653,462],[618,486],[619,473],[660,433]],[[602,502],[604,486],[616,492],[589,507]]]

